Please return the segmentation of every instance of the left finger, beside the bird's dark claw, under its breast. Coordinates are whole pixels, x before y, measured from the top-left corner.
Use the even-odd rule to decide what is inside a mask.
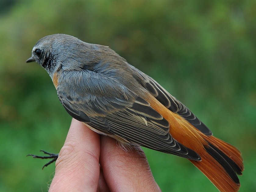
[[[51,191],[96,191],[100,174],[98,133],[83,123],[72,123],[56,161]]]

